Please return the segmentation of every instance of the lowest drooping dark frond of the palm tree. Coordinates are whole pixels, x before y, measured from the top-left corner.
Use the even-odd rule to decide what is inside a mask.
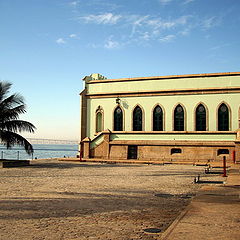
[[[20,145],[24,147],[25,151],[29,155],[34,152],[31,143],[17,133],[0,130],[0,139],[7,149],[10,149],[14,145]]]

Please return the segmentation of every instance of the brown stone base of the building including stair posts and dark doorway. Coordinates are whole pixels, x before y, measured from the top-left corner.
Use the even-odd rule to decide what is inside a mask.
[[[141,161],[222,161],[240,158],[238,141],[163,141],[163,140],[110,140],[110,131],[102,132],[102,142],[91,145],[89,138],[83,140],[83,158],[112,160],[136,159]],[[92,146],[92,147],[90,147]],[[131,151],[135,153],[129,154]]]

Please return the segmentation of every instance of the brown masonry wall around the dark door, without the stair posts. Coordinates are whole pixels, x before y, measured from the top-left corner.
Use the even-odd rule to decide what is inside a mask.
[[[112,160],[127,160],[128,159],[128,146],[135,145],[138,148],[136,160],[142,161],[209,161],[216,162],[222,161],[223,156],[226,156],[227,161],[233,161],[233,151],[236,149],[234,142],[168,142],[166,145],[147,145],[141,141],[117,143],[110,142],[109,145],[100,144],[95,146],[90,151],[91,158],[107,159],[103,153],[108,151],[108,159]],[[107,149],[106,149],[107,147]],[[172,150],[179,149],[180,153],[174,153]],[[228,150],[228,154],[219,154],[219,150]]]

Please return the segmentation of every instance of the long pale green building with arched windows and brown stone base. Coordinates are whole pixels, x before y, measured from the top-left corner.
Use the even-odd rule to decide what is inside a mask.
[[[83,80],[84,158],[239,157],[239,72],[123,79],[92,74]]]

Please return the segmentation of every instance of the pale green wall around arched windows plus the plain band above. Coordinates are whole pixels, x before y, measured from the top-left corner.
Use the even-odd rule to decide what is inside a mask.
[[[103,80],[106,81],[106,80]],[[240,76],[224,76],[211,78],[178,78],[160,80],[138,80],[122,82],[106,82],[88,84],[87,94],[97,93],[120,93],[120,92],[141,92],[157,90],[176,89],[213,89],[239,87]],[[240,93],[216,93],[198,95],[167,95],[167,96],[141,96],[141,97],[120,97],[120,104],[124,110],[124,131],[132,131],[132,111],[136,105],[144,111],[144,131],[152,131],[152,111],[156,104],[164,110],[164,131],[173,131],[173,111],[177,104],[182,104],[185,111],[185,130],[195,130],[195,108],[203,103],[207,109],[208,131],[217,131],[217,109],[222,103],[230,106],[230,131],[239,127],[238,111],[240,106]],[[116,97],[93,98],[87,100],[87,136],[91,139],[96,133],[96,109],[101,106],[104,112],[103,129],[113,130],[113,111],[116,104]]]

